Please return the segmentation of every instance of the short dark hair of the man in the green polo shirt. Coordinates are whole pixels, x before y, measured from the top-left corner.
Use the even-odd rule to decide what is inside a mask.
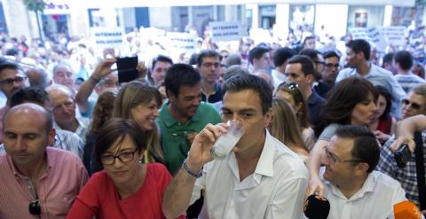
[[[176,97],[179,95],[180,87],[193,87],[200,82],[200,73],[193,66],[186,64],[174,64],[170,66],[164,77],[166,92],[169,91]]]

